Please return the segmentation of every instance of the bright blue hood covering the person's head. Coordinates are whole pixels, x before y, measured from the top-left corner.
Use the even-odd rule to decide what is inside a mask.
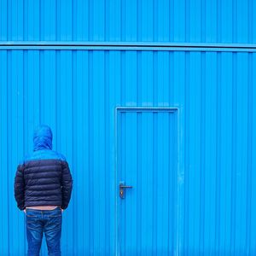
[[[34,151],[52,149],[52,132],[47,125],[39,125],[34,131]]]

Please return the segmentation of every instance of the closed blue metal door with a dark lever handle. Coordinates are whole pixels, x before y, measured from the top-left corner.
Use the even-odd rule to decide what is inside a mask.
[[[176,245],[177,111],[117,111],[117,251],[168,255]]]

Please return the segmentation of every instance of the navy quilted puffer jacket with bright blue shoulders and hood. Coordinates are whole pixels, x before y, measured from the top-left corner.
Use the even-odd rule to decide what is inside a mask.
[[[34,133],[32,155],[17,167],[15,200],[20,210],[34,206],[60,206],[70,201],[73,180],[65,157],[52,149],[52,132],[41,125]]]

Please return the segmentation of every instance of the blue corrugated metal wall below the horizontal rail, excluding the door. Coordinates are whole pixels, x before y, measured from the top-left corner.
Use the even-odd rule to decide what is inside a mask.
[[[254,53],[1,50],[0,63],[2,255],[26,252],[13,182],[38,123],[53,128],[73,171],[63,255],[116,252],[118,106],[177,107],[173,251],[256,253]]]

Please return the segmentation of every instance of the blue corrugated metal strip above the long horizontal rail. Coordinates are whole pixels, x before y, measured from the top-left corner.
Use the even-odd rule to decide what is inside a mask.
[[[253,0],[2,0],[2,41],[256,43]]]

